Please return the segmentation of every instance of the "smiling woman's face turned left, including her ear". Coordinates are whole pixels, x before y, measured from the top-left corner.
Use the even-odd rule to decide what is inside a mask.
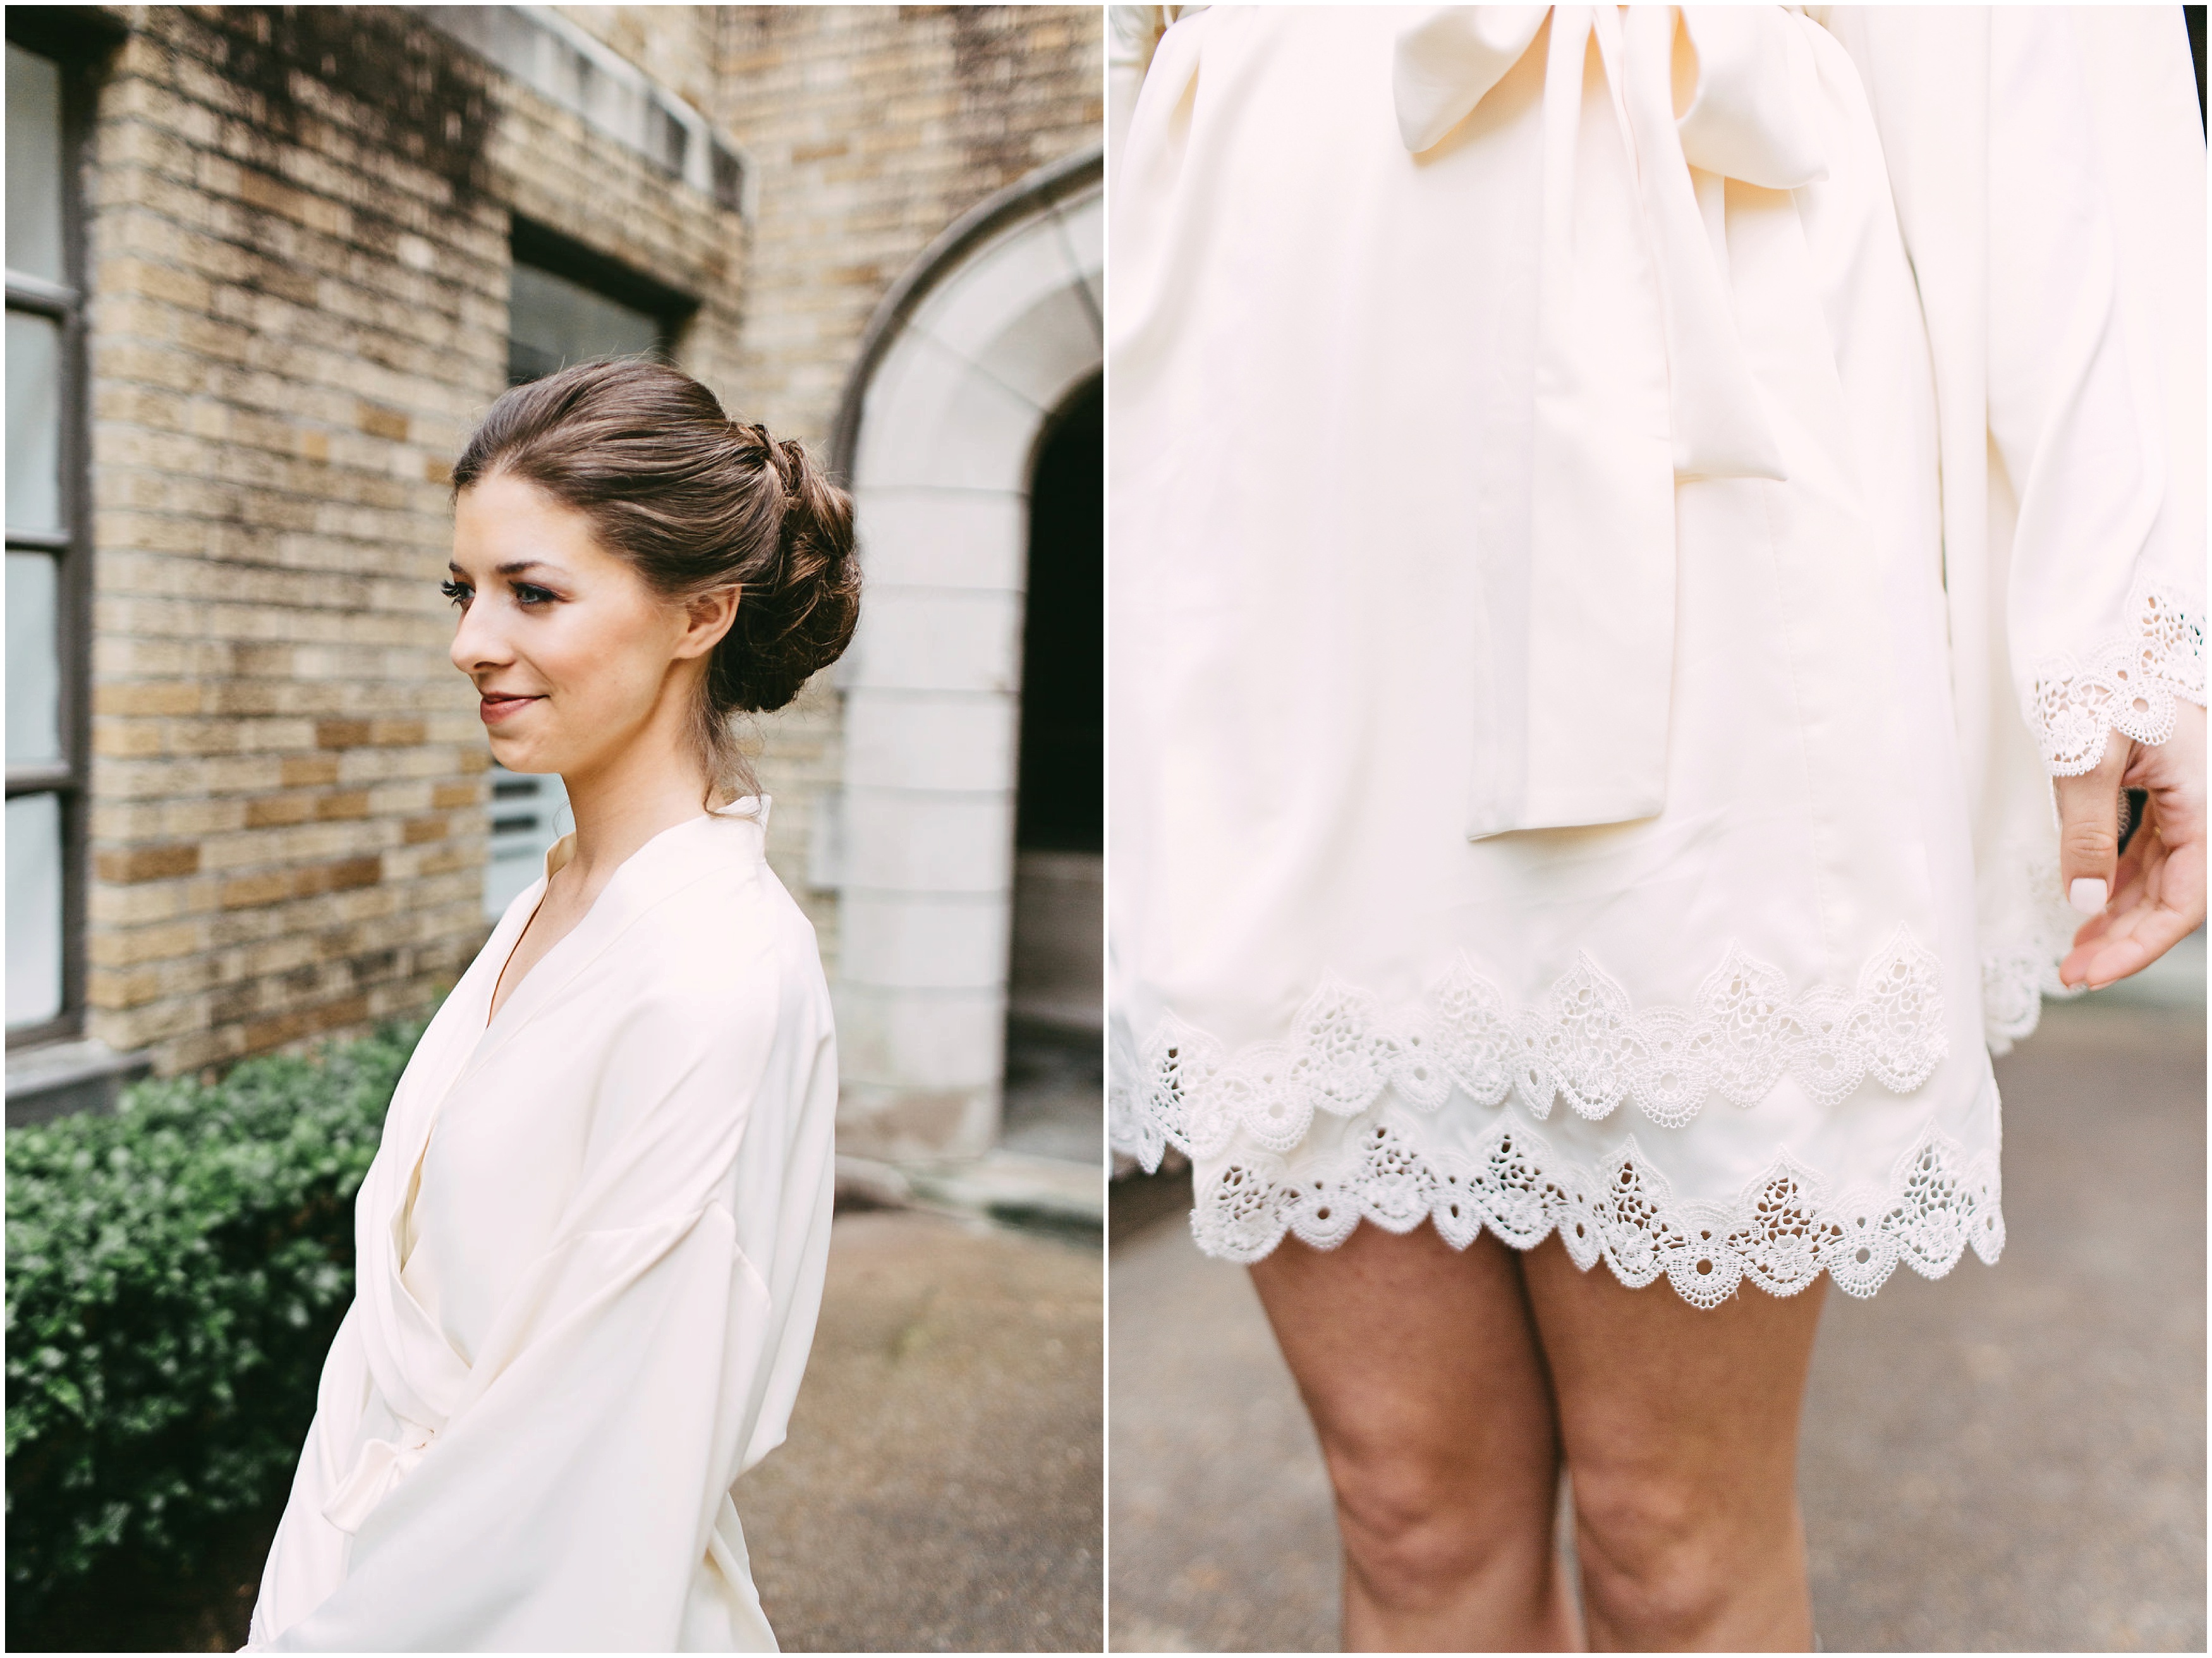
[[[584,514],[498,474],[453,502],[445,593],[460,607],[453,666],[476,684],[491,757],[520,773],[586,775],[648,728],[679,728],[728,629],[723,618],[701,631],[599,547]]]

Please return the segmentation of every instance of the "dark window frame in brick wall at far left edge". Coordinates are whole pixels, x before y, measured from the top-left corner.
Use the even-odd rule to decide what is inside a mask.
[[[84,155],[93,126],[95,75],[122,35],[91,7],[9,7],[7,40],[62,73],[62,272],[53,283],[7,272],[7,308],[62,325],[60,465],[62,533],[7,529],[9,551],[55,560],[55,666],[60,671],[60,766],[9,766],[7,799],[55,795],[62,806],[62,1012],[7,1032],[7,1049],[84,1034],[86,819],[91,817],[93,491],[91,387],[84,361]]]

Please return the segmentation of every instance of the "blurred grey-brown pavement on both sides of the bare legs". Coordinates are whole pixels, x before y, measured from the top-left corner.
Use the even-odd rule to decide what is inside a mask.
[[[1801,1483],[1832,1651],[2205,1649],[2205,1032],[2046,1009],[1997,1060],[2004,1260],[1829,1295]],[[1117,1651],[1323,1651],[1336,1530],[1241,1268],[1113,1213]]]

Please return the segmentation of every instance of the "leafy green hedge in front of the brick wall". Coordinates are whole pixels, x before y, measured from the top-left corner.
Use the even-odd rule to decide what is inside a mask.
[[[420,1025],[7,1131],[7,1585],[192,1569],[279,1505],[354,1295],[354,1193]]]

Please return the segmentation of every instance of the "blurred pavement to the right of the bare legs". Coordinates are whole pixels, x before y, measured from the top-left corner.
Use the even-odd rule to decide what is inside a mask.
[[[2203,1651],[2203,1018],[1997,1060],[2004,1260],[1823,1317],[1798,1459],[1834,1649]]]

